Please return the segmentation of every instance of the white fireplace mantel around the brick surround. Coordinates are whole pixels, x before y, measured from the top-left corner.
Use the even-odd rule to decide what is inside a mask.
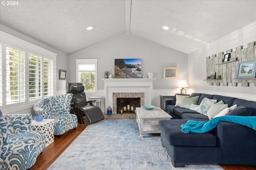
[[[151,105],[153,81],[156,78],[102,78],[105,91],[105,109],[113,108],[113,93],[140,93],[145,96],[145,105]]]

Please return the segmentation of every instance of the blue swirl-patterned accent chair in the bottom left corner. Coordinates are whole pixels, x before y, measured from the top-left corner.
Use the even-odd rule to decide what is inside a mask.
[[[43,131],[31,130],[31,114],[3,114],[0,110],[0,170],[26,170],[46,146]]]

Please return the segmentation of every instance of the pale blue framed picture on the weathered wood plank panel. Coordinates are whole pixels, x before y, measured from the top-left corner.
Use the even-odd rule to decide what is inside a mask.
[[[256,78],[256,60],[238,63],[236,78]]]

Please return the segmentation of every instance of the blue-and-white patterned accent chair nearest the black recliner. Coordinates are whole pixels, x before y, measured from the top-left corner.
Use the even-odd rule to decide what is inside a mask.
[[[62,135],[70,129],[76,130],[77,117],[70,114],[70,104],[73,94],[60,94],[43,98],[34,104],[36,115],[44,119],[54,119],[54,135]]]

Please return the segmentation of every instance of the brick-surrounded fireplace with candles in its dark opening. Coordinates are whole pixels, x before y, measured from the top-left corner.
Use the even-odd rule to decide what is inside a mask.
[[[135,108],[144,105],[144,93],[113,93],[113,114],[136,113]]]

